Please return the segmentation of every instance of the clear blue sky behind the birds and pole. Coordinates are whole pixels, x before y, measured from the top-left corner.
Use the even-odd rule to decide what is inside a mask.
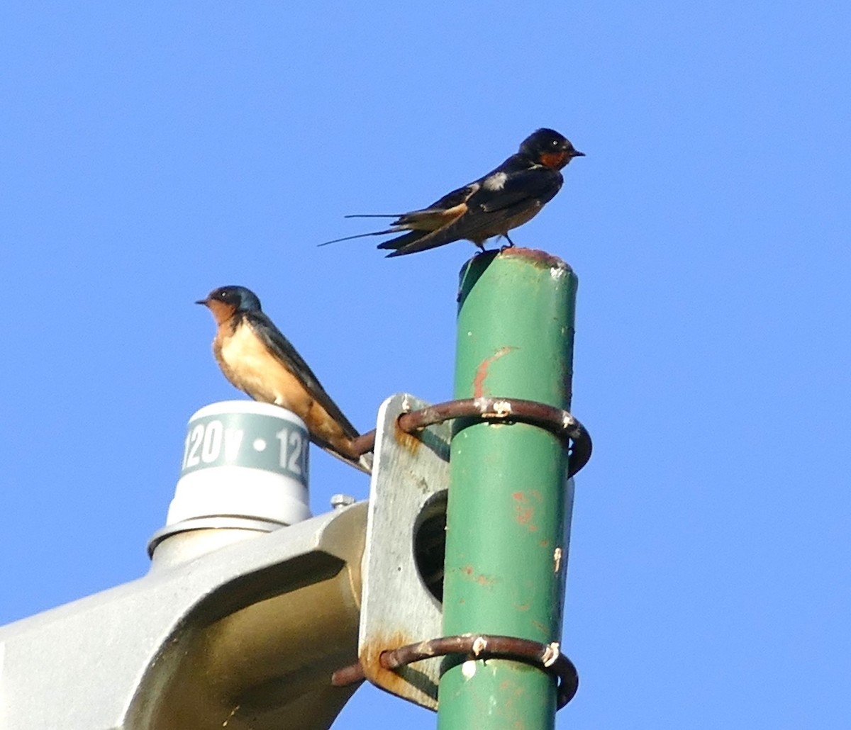
[[[847,727],[848,3],[3,3],[0,623],[134,579],[237,283],[363,430],[452,392],[431,202],[541,126],[580,277],[558,727]],[[316,451],[311,503],[368,483]],[[434,727],[361,689],[335,727]]]

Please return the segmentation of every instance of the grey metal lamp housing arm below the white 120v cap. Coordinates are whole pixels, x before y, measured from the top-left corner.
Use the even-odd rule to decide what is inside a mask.
[[[174,535],[144,578],[0,628],[0,727],[329,727],[357,688],[329,678],[357,659],[366,514]]]

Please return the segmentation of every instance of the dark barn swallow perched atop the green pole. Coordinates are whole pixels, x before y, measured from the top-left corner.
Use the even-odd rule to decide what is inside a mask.
[[[484,250],[484,242],[494,236],[505,237],[513,246],[508,231],[534,218],[545,203],[555,197],[563,183],[559,170],[574,157],[585,157],[585,153],[575,150],[574,145],[554,129],[538,129],[529,134],[517,154],[511,155],[500,167],[444,195],[428,208],[402,214],[346,216],[395,218],[385,231],[336,238],[319,245],[409,231],[380,243],[378,248],[392,249],[391,254],[387,254],[387,258],[391,258],[465,238]]]

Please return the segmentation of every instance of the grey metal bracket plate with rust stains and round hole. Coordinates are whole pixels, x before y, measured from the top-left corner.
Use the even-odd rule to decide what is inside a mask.
[[[418,548],[416,537],[426,533],[427,542],[431,531],[433,538],[435,525],[445,515],[452,425],[430,425],[415,435],[397,425],[400,415],[427,405],[400,394],[388,398],[379,410],[363,554],[358,657],[374,685],[436,710],[440,657],[397,670],[380,664],[382,651],[440,636],[443,630],[442,605],[426,587],[417,565],[423,544]],[[442,569],[442,556],[439,565]]]

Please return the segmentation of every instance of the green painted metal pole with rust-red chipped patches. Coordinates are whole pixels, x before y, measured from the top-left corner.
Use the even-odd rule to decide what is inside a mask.
[[[479,254],[460,273],[456,398],[570,407],[577,278],[526,248]],[[457,421],[447,506],[443,633],[560,639],[572,509],[568,454],[534,425]],[[509,659],[445,664],[441,730],[545,730],[555,681]]]

